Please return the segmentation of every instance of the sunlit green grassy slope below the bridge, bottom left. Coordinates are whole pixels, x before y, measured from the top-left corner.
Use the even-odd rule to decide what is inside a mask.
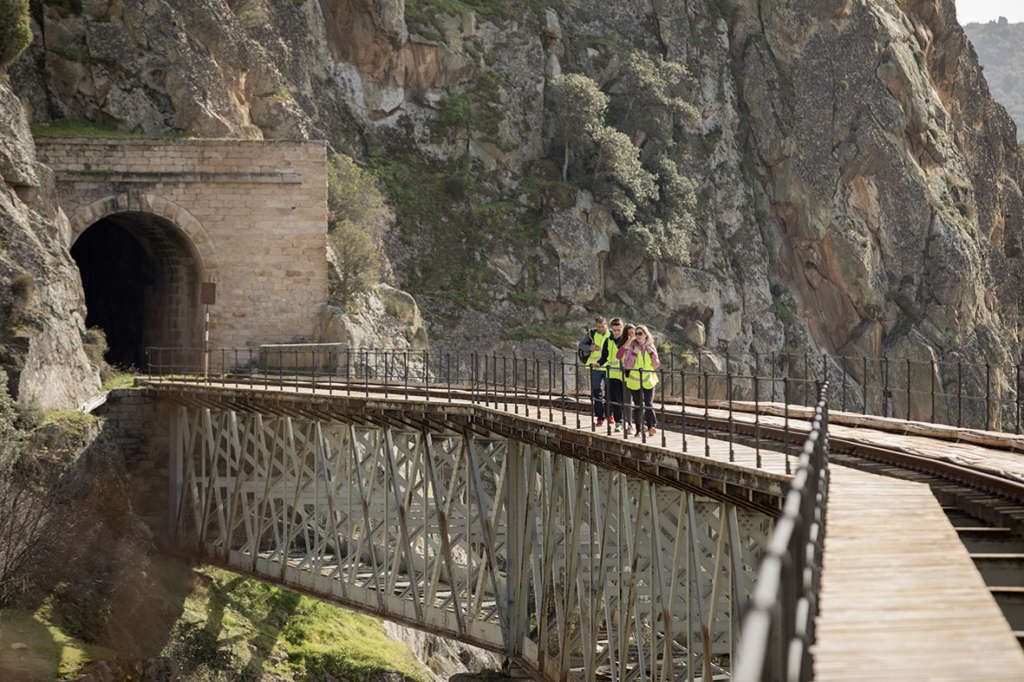
[[[137,587],[108,626],[82,633],[97,644],[73,636],[49,602],[35,612],[0,610],[0,680],[49,681],[90,662],[160,655],[177,660],[175,679],[431,679],[375,619],[254,579],[154,557]],[[101,645],[106,639],[117,649]]]

